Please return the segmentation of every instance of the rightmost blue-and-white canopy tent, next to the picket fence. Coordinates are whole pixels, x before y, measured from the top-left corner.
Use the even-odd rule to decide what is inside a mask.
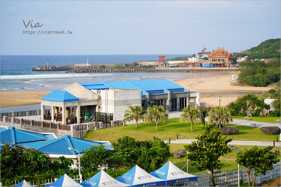
[[[166,185],[175,184],[175,183],[185,183],[189,181],[197,181],[198,177],[195,175],[188,174],[172,162],[167,162],[158,170],[155,170],[150,173],[150,175],[155,176],[160,179],[166,180]]]

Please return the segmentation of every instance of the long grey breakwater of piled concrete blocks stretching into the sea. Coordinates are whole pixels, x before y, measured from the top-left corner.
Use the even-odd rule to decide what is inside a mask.
[[[141,66],[140,66],[141,67]],[[236,69],[236,68],[235,68]],[[235,69],[225,68],[115,68],[115,67],[104,67],[100,68],[97,66],[79,66],[74,65],[52,65],[52,66],[38,66],[32,68],[32,71],[67,71],[69,73],[108,73],[108,72],[157,72],[157,73],[188,73],[188,72],[212,72],[212,71],[234,71]]]

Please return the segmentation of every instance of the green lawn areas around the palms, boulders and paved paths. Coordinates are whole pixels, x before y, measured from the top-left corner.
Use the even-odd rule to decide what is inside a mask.
[[[234,117],[236,119],[244,119],[244,117]],[[263,121],[263,122],[273,122],[275,123],[276,119],[280,119],[280,117],[250,117],[250,120],[253,121]],[[193,125],[194,131],[191,132],[191,123],[183,122],[180,123],[179,118],[171,118],[164,124],[160,122],[159,130],[156,131],[155,123],[145,124],[139,123],[138,129],[136,129],[135,124],[128,126],[120,126],[120,127],[110,127],[110,128],[102,128],[98,130],[88,130],[86,135],[83,137],[87,140],[92,141],[116,141],[118,138],[123,137],[124,135],[136,138],[136,140],[153,140],[154,137],[161,138],[161,140],[171,140],[176,139],[176,134],[178,133],[179,139],[196,139],[197,135],[202,134],[202,123],[198,121],[195,125]],[[260,131],[259,127],[247,127],[241,125],[227,125],[226,127],[236,127],[239,128],[239,132],[237,135],[228,135],[227,137],[232,137],[236,141],[270,141],[276,140],[276,135],[266,135]],[[245,146],[236,146],[242,151]],[[249,148],[251,146],[248,146]],[[262,147],[262,146],[260,146]],[[169,161],[174,163],[180,169],[186,163],[186,157],[175,159],[172,156],[172,153],[175,151],[184,150],[184,144],[170,144],[170,152],[171,157]],[[280,147],[274,147],[274,150],[280,150]],[[237,168],[237,163],[235,162],[235,157],[237,154],[237,149],[234,148],[233,151],[227,155],[221,156],[220,161],[224,162],[224,166],[222,167],[222,171],[233,170]],[[191,161],[189,161],[188,173],[198,172],[198,170],[190,165]],[[182,169],[186,172],[186,165]]]

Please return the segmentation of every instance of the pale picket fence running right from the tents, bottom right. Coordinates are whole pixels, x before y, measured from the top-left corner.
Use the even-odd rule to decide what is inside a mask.
[[[280,176],[281,173],[281,162],[274,164],[274,170],[266,172],[265,175],[259,174],[256,177],[255,184],[260,184],[263,181],[271,180]],[[238,165],[237,165],[238,167]],[[246,176],[246,168],[240,168],[239,171],[239,180],[243,180],[243,183],[248,183],[248,179]],[[213,183],[211,181],[211,171],[191,173],[192,175],[198,176],[198,186],[212,186]],[[254,178],[254,171],[250,173],[250,180],[252,181]],[[238,170],[229,170],[224,173],[221,171],[214,172],[214,180],[217,186],[233,186],[238,185]],[[196,185],[193,185],[196,186]]]

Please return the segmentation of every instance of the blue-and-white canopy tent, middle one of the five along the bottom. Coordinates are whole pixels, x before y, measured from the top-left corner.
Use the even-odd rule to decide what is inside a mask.
[[[130,186],[128,184],[119,182],[110,175],[108,175],[104,170],[101,170],[96,175],[92,176],[90,179],[79,183],[82,186]]]

